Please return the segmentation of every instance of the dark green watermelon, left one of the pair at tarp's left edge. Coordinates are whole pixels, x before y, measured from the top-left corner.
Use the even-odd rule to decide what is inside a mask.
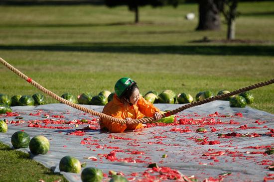
[[[29,135],[24,131],[16,131],[11,136],[11,144],[14,149],[27,148],[29,145]]]

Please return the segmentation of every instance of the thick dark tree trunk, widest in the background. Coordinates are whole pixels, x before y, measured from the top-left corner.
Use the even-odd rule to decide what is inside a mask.
[[[218,4],[214,0],[198,0],[199,25],[196,30],[219,30],[220,15]]]

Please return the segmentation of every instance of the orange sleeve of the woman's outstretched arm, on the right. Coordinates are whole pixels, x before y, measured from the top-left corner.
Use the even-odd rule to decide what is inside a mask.
[[[139,111],[148,117],[153,117],[153,114],[155,112],[160,112],[160,110],[155,107],[151,102],[145,100],[142,96],[140,96],[141,98],[138,100],[137,104],[139,107]]]

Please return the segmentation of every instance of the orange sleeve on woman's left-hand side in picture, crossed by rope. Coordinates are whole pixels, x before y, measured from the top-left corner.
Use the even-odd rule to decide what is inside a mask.
[[[107,115],[110,115],[112,117],[123,119],[123,117],[122,117],[123,113],[122,113],[121,110],[115,109],[116,112],[115,111],[113,112],[113,110],[114,110],[113,107],[107,107],[107,108],[104,108],[103,113],[107,114]],[[117,123],[117,122],[111,122],[111,121],[109,121],[107,119],[102,119],[102,123],[103,123],[103,126],[106,127],[112,133],[122,133],[127,128],[126,124],[120,124],[120,123]]]

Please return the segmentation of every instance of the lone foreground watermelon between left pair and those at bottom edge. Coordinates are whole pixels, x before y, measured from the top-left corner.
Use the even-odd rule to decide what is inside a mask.
[[[59,169],[60,171],[67,173],[80,173],[81,164],[78,159],[71,156],[65,156],[60,160]]]

